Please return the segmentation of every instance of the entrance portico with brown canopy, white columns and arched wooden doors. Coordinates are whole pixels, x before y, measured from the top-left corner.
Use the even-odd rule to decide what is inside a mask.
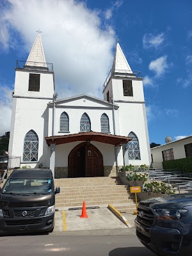
[[[122,166],[128,164],[127,158],[125,156],[125,150],[127,143],[131,141],[131,138],[125,136],[117,136],[111,134],[104,134],[101,132],[81,132],[78,134],[69,134],[62,136],[50,136],[45,137],[47,145],[51,146],[50,155],[50,168],[54,175],[55,170],[55,159],[56,159],[56,147],[57,145],[63,145],[63,147],[69,148],[70,143],[79,141],[75,147],[68,152],[68,174],[67,177],[97,177],[104,176],[104,164],[105,157],[111,159],[111,166]],[[80,142],[81,141],[81,142]],[[83,141],[83,142],[82,142]],[[108,147],[98,148],[93,145],[93,141],[97,142],[97,145],[111,145],[114,146],[114,150],[107,152]],[[122,147],[124,146],[124,147]],[[110,156],[109,156],[110,155]],[[120,159],[120,161],[118,161]]]

